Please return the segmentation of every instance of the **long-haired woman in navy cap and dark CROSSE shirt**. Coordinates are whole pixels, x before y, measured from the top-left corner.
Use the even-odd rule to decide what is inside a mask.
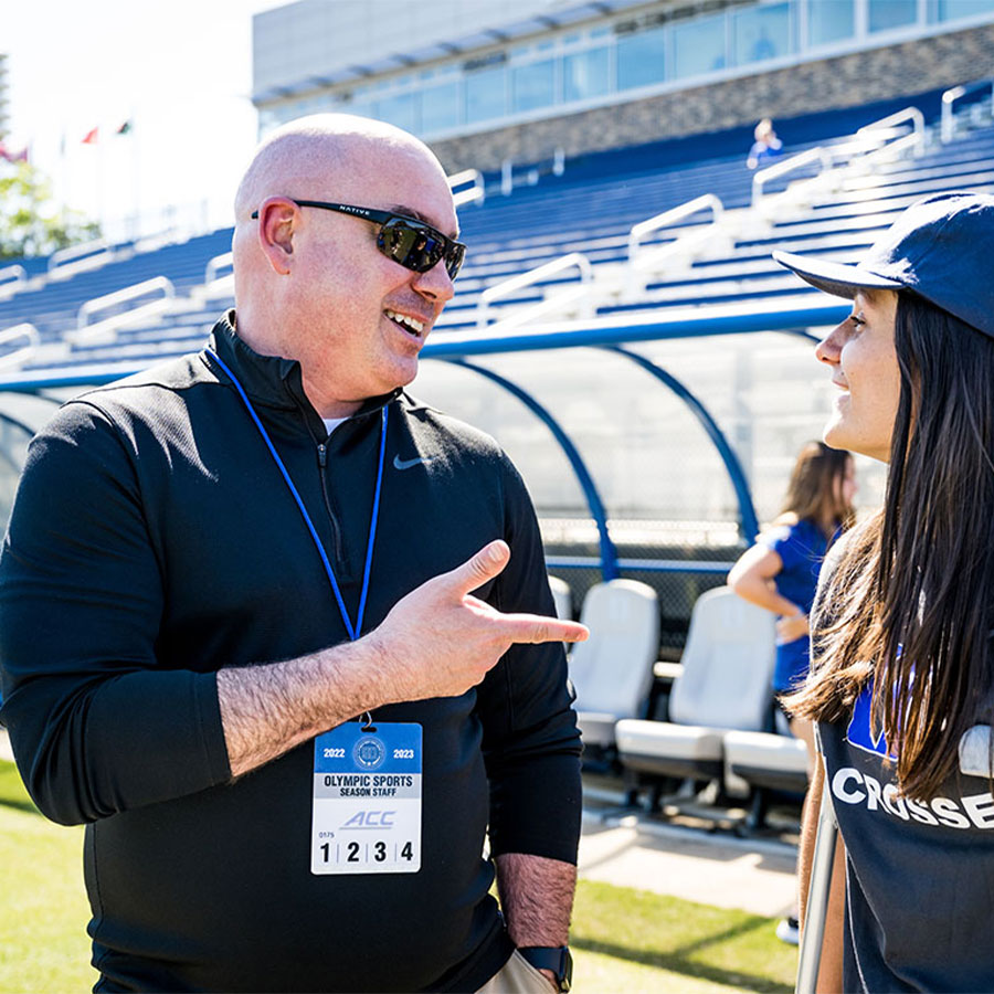
[[[786,701],[822,752],[802,879],[823,782],[839,825],[821,983],[988,991],[994,197],[918,201],[857,266],[775,255],[853,300],[816,350],[840,389],[825,441],[890,464],[884,506],[828,553]]]

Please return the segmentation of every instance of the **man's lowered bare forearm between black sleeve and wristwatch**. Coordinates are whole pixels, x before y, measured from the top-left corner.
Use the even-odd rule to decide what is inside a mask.
[[[500,907],[517,947],[565,945],[577,867],[561,859],[505,853],[495,859]]]

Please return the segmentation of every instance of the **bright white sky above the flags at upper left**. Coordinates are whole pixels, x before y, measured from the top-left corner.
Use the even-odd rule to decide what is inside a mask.
[[[0,0],[8,147],[120,230],[231,223],[256,141],[252,14],[283,0]],[[127,135],[116,135],[125,121]],[[97,141],[84,136],[98,128]]]

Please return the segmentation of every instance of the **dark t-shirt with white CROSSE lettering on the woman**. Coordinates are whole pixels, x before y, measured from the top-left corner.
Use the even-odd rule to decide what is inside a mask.
[[[959,775],[900,797],[869,731],[869,688],[818,732],[846,846],[846,991],[994,991],[994,797]]]

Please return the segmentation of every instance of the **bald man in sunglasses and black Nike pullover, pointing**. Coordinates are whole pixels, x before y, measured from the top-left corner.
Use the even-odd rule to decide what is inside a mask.
[[[61,409],[0,557],[0,718],[87,826],[94,990],[565,990],[585,630],[507,457],[403,391],[446,178],[303,118],[235,211],[235,309]]]

